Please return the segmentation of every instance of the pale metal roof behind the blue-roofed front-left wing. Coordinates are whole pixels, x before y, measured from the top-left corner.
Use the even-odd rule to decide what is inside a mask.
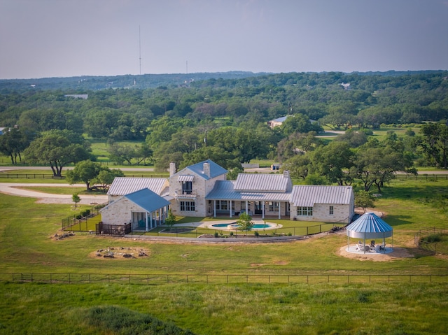
[[[108,195],[125,195],[148,188],[156,194],[162,194],[167,183],[166,178],[116,177],[109,187]]]

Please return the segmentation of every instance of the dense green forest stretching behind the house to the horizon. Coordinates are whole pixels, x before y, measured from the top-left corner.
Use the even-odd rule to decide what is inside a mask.
[[[447,169],[448,71],[155,78],[0,80],[0,151],[57,175],[95,161],[90,143],[101,140],[117,164],[165,170],[213,159],[232,178],[241,163],[270,159],[304,183],[358,180],[365,190],[380,190],[395,171]],[[406,131],[372,136],[384,125]],[[344,134],[329,141],[324,130]]]

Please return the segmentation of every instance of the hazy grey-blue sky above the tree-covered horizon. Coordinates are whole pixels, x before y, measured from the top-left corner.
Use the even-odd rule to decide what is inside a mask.
[[[448,69],[448,0],[0,0],[0,78]]]

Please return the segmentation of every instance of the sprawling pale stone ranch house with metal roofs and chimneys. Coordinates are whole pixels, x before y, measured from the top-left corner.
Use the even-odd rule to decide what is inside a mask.
[[[293,185],[289,171],[239,173],[237,180],[227,180],[228,171],[208,159],[179,172],[172,163],[169,172],[168,179],[116,178],[108,192],[110,204],[102,211],[103,222],[132,222],[133,227],[142,228],[142,218],[145,218],[146,229],[155,227],[153,222],[162,224],[165,221],[166,201],[174,215],[190,217],[221,215],[232,218],[246,212],[260,218],[349,223],[354,215],[351,186]],[[148,207],[146,212],[141,208],[132,209],[129,201],[137,203],[137,197],[149,194],[139,194],[139,190],[150,190],[151,201],[157,208]]]

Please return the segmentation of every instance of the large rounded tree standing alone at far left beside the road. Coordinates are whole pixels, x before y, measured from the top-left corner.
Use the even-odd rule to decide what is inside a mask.
[[[66,164],[90,158],[88,145],[82,136],[69,130],[45,131],[24,151],[31,164],[50,164],[53,176],[62,177]]]

